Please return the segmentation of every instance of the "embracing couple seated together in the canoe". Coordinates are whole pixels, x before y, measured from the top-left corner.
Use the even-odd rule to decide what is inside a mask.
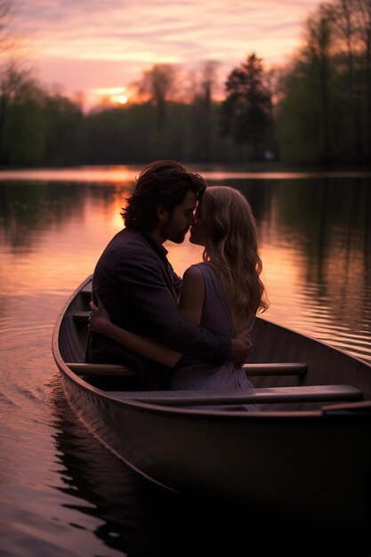
[[[268,303],[246,198],[160,161],[141,172],[122,216],[125,229],[94,270],[86,360],[134,367],[146,389],[168,386],[169,377],[171,389],[249,388],[238,362]],[[181,280],[163,244],[180,244],[189,229],[204,262]]]

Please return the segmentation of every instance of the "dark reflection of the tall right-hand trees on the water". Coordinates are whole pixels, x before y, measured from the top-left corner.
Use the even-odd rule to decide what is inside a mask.
[[[338,344],[349,349],[352,335],[354,352],[370,358],[369,343],[359,351],[362,338],[370,335],[369,182],[280,182],[275,202],[276,238],[281,242],[292,238],[300,254],[299,311],[311,309],[319,337],[327,339],[330,324],[341,335],[343,328],[343,342]]]

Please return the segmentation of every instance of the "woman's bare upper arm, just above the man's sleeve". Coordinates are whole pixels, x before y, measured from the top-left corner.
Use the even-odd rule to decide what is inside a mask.
[[[184,272],[181,283],[179,311],[196,325],[201,323],[206,297],[205,279],[202,271],[192,266]]]

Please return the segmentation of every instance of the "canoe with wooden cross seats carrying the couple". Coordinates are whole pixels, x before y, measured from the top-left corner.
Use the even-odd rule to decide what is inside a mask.
[[[258,318],[251,391],[143,392],[127,367],[84,363],[91,289],[88,277],[64,305],[52,352],[71,407],[101,443],[176,493],[290,530],[346,532],[370,549],[370,362]],[[241,403],[258,409],[233,409]]]

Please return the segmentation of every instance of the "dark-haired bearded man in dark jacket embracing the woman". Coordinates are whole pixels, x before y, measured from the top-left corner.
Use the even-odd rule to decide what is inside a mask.
[[[230,356],[246,359],[249,343],[244,335],[225,339],[181,317],[181,278],[163,246],[166,240],[183,242],[205,188],[199,174],[176,162],[159,161],[145,168],[122,211],[125,229],[111,239],[96,265],[93,292],[118,327],[218,366]],[[157,364],[104,335],[89,335],[86,360],[126,364],[141,372],[144,387],[164,386],[165,372]]]

